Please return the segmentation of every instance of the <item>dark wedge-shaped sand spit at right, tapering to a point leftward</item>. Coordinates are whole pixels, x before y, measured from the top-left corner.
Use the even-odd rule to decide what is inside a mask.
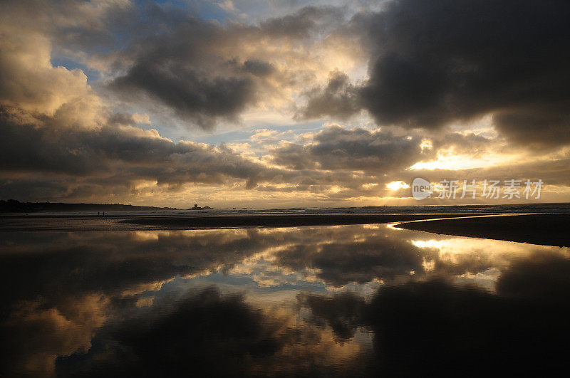
[[[570,246],[570,214],[529,214],[442,219],[398,224],[398,228],[455,236]]]

